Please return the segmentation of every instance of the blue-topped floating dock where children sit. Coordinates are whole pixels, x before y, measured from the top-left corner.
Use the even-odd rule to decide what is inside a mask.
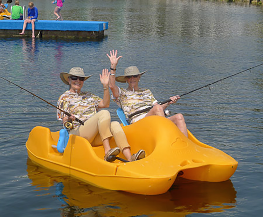
[[[19,35],[24,20],[0,20],[0,35]],[[38,20],[35,22],[35,35],[40,37],[103,37],[108,29],[104,21],[72,21],[72,20]],[[32,35],[32,26],[27,24],[25,35]]]

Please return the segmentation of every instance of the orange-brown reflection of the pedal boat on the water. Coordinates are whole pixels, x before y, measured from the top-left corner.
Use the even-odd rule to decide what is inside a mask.
[[[191,213],[223,212],[235,207],[236,191],[231,180],[201,182],[177,178],[168,192],[161,195],[139,195],[111,191],[39,167],[27,160],[28,178],[38,195],[57,197],[62,216],[98,215],[184,216]],[[56,186],[54,194],[46,190]]]

